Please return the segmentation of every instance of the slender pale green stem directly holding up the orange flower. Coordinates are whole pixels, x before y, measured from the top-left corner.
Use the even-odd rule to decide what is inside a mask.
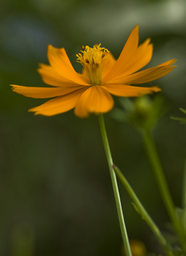
[[[117,184],[117,180],[116,180],[116,174],[114,172],[114,169],[112,168],[113,165],[113,161],[112,161],[112,156],[111,156],[111,150],[109,147],[109,141],[107,138],[107,132],[105,130],[105,123],[104,123],[104,116],[102,114],[98,115],[99,118],[99,122],[100,122],[100,130],[101,130],[101,134],[102,134],[102,140],[104,143],[104,148],[105,148],[105,154],[107,157],[107,162],[109,164],[109,171],[111,173],[111,180],[112,180],[112,188],[114,190],[114,197],[116,200],[116,208],[118,211],[118,218],[119,218],[119,222],[120,222],[120,228],[121,228],[121,235],[123,238],[123,243],[125,246],[125,252],[127,256],[132,256],[131,250],[130,250],[130,244],[128,241],[128,236],[127,236],[127,229],[125,227],[125,221],[123,218],[123,211],[122,211],[122,207],[121,207],[121,200],[120,200],[120,193],[118,190],[118,184]]]

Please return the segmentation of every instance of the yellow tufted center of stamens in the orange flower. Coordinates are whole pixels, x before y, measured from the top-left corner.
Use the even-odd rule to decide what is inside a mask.
[[[101,44],[96,44],[93,48],[82,46],[82,54],[76,54],[77,62],[81,63],[86,70],[89,81],[93,85],[100,85],[102,81],[102,62],[109,52]]]

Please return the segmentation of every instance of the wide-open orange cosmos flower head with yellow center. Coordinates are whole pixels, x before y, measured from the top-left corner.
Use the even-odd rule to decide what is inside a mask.
[[[65,49],[49,45],[47,56],[50,65],[40,64],[39,74],[46,84],[54,88],[38,88],[12,85],[13,91],[26,97],[51,98],[41,106],[29,111],[35,115],[52,116],[75,108],[75,115],[81,118],[90,113],[100,114],[110,111],[114,106],[112,95],[120,97],[137,97],[146,93],[159,92],[160,88],[131,86],[143,84],[166,76],[176,61],[169,60],[161,65],[135,73],[150,60],[153,45],[150,38],[138,46],[138,26],[136,26],[121,51],[118,60],[100,44],[82,47],[77,54],[77,61],[84,67],[82,74],[75,72]]]

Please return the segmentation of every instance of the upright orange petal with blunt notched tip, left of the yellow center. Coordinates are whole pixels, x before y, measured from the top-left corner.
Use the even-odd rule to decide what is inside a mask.
[[[52,68],[54,68],[63,79],[76,84],[89,85],[75,72],[64,48],[58,49],[49,45],[47,56]]]

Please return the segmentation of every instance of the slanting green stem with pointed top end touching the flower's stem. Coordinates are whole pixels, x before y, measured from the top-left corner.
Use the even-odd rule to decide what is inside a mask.
[[[120,169],[116,165],[113,165],[113,168],[116,172],[118,179],[120,179],[121,183],[127,190],[128,195],[130,195],[130,198],[134,202],[134,207],[136,208],[137,212],[139,212],[139,214],[141,215],[141,218],[143,218],[143,220],[146,221],[148,226],[151,228],[153,234],[155,234],[160,244],[162,244],[162,246],[164,247],[164,250],[167,253],[167,255],[173,255],[173,253],[171,252],[171,248],[169,248],[169,245],[167,244],[166,239],[164,238],[164,236],[162,236],[162,233],[160,232],[159,228],[154,223],[154,221],[151,219],[146,209],[144,209],[143,204],[141,204],[139,198],[137,198],[136,193],[128,183],[123,173],[121,173]]]

